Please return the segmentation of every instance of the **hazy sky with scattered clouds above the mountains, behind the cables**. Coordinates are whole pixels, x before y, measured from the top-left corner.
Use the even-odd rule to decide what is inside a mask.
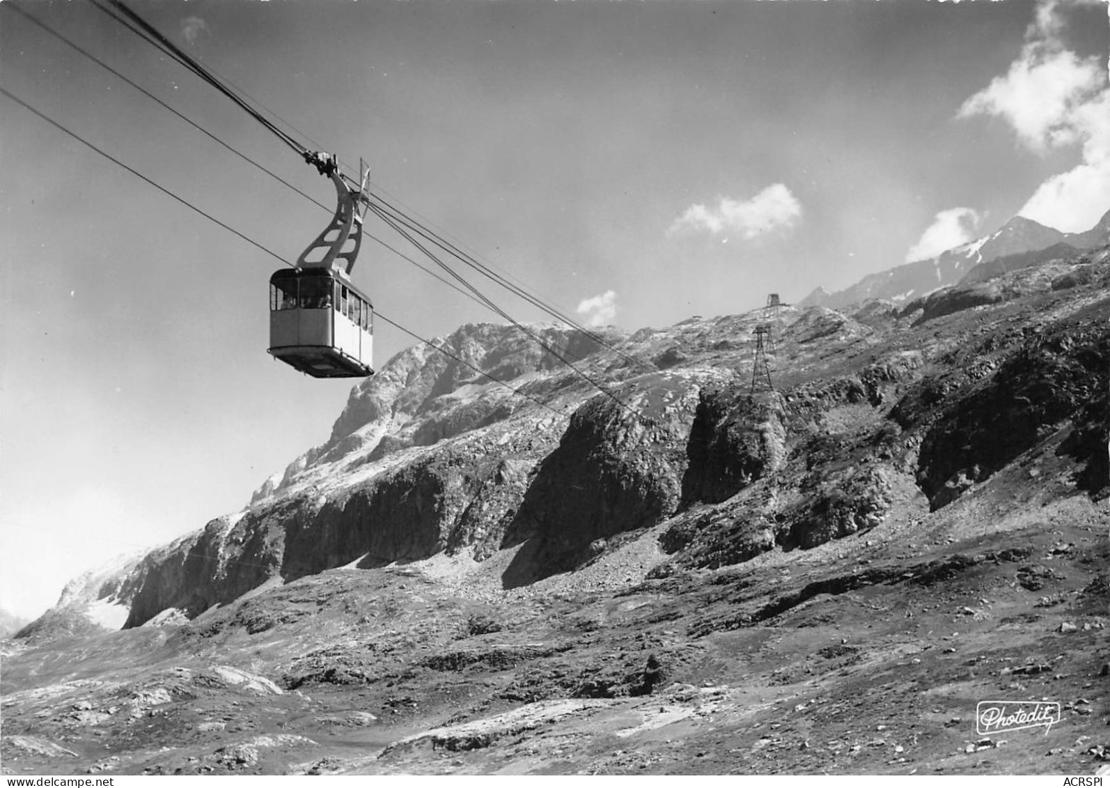
[[[591,325],[735,314],[1016,214],[1110,209],[1104,2],[128,0],[314,149]],[[13,8],[14,7],[14,8]],[[330,183],[88,0],[0,3],[0,87],[294,261]],[[353,163],[353,164],[352,164]],[[371,235],[412,254],[387,228]],[[0,95],[0,607],[242,508],[352,387],[273,361],[282,264]],[[421,336],[497,320],[367,240]],[[484,292],[522,321],[534,307]],[[411,345],[379,321],[375,363]]]

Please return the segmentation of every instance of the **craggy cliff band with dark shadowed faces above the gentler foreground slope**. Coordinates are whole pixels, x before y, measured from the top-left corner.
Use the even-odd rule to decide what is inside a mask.
[[[1054,259],[901,312],[696,317],[609,334],[617,351],[538,329],[605,392],[515,329],[463,326],[442,345],[527,396],[410,348],[244,512],[75,582],[28,633],[93,609],[192,618],[270,580],[438,554],[505,555],[515,588],[652,529],[658,576],[727,566],[942,508],[1051,441],[1101,495],[1108,263]],[[775,392],[750,385],[764,322]]]

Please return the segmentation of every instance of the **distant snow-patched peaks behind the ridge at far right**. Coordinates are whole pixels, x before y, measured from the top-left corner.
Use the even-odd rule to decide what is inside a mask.
[[[908,303],[941,287],[953,285],[968,276],[976,266],[991,263],[1000,257],[1040,252],[1056,244],[1082,250],[1106,243],[1110,243],[1110,211],[1099,220],[1098,224],[1082,233],[1062,233],[1031,219],[1015,216],[995,233],[941,252],[935,257],[868,274],[850,287],[836,293],[828,293],[824,287],[817,287],[799,305],[837,310],[871,299]],[[1053,254],[1048,259],[1052,256],[1061,254]],[[1038,260],[1015,259],[1011,262],[1015,264],[1002,266],[1001,270],[1011,271],[1021,264],[1036,264]],[[983,274],[987,274],[987,271],[976,275]]]

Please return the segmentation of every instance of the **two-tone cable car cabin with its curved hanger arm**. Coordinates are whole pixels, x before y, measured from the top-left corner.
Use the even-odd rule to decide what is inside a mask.
[[[296,267],[270,277],[269,353],[313,377],[366,377],[374,374],[374,310],[351,283],[362,243],[357,203],[365,175],[356,192],[343,180],[334,155],[305,154],[305,160],[332,179],[339,206]],[[320,251],[321,259],[310,260]]]

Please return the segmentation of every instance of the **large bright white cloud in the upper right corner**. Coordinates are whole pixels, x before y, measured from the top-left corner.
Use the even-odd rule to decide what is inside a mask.
[[[996,117],[1029,150],[1078,145],[1082,161],[1045,181],[1019,213],[1063,231],[1091,228],[1110,208],[1110,87],[1097,58],[1080,58],[1061,38],[1063,9],[1092,0],[1041,0],[1021,52],[1002,77],[960,107],[958,118]]]

